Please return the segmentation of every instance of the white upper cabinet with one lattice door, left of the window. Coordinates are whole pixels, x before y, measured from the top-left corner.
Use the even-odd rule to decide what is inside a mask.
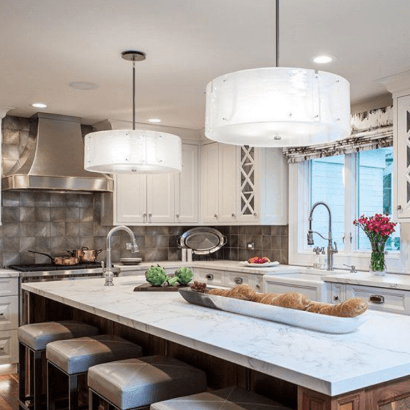
[[[202,146],[201,220],[288,223],[288,164],[279,149]]]

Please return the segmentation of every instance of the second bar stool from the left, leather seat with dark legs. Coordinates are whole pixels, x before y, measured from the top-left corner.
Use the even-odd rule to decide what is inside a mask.
[[[49,343],[47,358],[47,408],[55,409],[54,388],[57,372],[68,377],[68,408],[78,408],[78,377],[86,375],[88,368],[100,363],[141,356],[142,348],[137,344],[114,335],[80,337]]]

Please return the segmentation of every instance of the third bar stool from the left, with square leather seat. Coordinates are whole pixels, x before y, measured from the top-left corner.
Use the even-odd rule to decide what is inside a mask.
[[[89,410],[100,401],[109,409],[148,408],[172,397],[204,392],[207,377],[201,370],[169,356],[147,356],[90,367]]]

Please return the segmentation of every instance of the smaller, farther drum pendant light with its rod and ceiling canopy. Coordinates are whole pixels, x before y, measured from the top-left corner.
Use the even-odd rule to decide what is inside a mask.
[[[108,174],[159,174],[181,171],[181,139],[173,134],[135,129],[135,61],[145,60],[140,51],[124,51],[133,63],[132,130],[92,132],[85,136],[84,168]]]

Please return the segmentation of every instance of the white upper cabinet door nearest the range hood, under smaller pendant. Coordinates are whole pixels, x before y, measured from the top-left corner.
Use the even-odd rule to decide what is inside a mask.
[[[147,175],[116,175],[114,183],[116,205],[114,222],[125,224],[146,222]]]

